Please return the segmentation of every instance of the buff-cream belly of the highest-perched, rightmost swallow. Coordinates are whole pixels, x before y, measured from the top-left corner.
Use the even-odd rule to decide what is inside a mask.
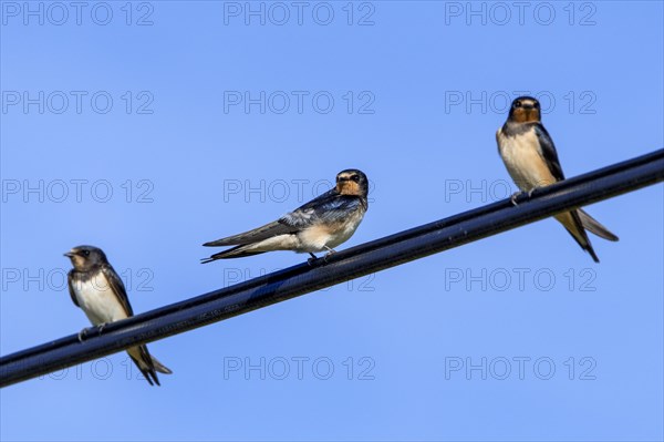
[[[535,187],[556,183],[544,158],[540,155],[539,141],[535,131],[507,137],[499,130],[497,140],[507,172],[521,191],[528,192]]]

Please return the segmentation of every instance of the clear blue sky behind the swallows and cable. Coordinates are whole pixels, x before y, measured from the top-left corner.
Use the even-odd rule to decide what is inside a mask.
[[[75,245],[143,312],[302,263],[200,244],[344,168],[372,202],[340,248],[508,195],[519,91],[568,176],[664,145],[662,2],[247,4],[0,3],[1,354],[87,326]],[[12,386],[1,439],[662,440],[663,205],[588,207],[599,265],[547,219],[153,342],[162,388],[124,353]]]

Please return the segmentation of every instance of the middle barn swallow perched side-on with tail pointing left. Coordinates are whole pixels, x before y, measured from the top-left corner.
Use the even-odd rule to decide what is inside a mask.
[[[206,247],[236,246],[205,258],[240,258],[272,250],[309,253],[334,251],[346,241],[362,222],[369,202],[369,181],[361,171],[349,168],[336,175],[336,185],[303,206],[243,234],[205,243]]]

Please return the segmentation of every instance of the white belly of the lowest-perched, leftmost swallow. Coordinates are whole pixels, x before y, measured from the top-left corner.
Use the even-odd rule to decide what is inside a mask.
[[[86,281],[72,281],[79,306],[93,326],[125,319],[127,313],[115,297],[103,274]]]

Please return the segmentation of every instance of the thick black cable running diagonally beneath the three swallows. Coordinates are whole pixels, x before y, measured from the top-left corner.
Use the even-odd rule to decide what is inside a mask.
[[[181,333],[664,181],[664,150],[0,358],[0,387]],[[443,205],[443,203],[440,203]]]

